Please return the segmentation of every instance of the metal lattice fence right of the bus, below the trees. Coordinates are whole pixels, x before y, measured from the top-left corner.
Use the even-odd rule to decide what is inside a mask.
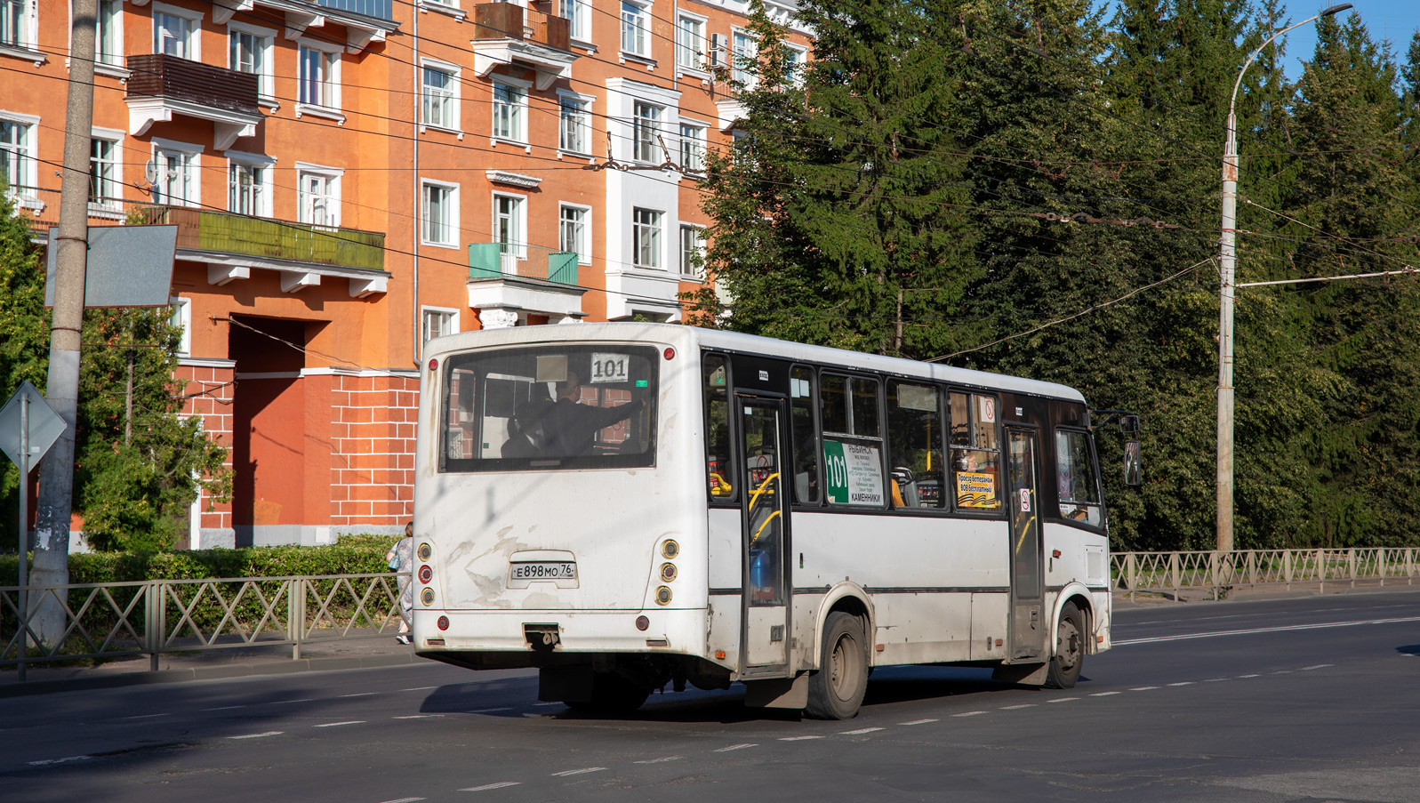
[[[1268,587],[1316,583],[1403,580],[1407,586],[1420,578],[1420,549],[1274,549],[1235,551],[1119,551],[1110,554],[1110,583],[1115,593],[1211,591],[1213,598],[1227,588]]]

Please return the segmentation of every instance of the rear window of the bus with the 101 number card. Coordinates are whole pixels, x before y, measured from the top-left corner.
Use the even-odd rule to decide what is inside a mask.
[[[450,355],[440,470],[652,465],[656,357],[616,344]]]

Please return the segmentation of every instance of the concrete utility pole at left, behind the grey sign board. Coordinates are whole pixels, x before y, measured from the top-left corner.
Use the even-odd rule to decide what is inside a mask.
[[[74,496],[74,422],[80,388],[80,331],[84,325],[84,274],[88,267],[88,182],[94,135],[94,34],[98,0],[72,0],[70,95],[64,118],[64,175],[60,183],[60,230],[55,246],[54,318],[50,325],[50,377],[45,398],[64,419],[64,433],[40,463],[34,520],[34,586],[70,581],[70,514]],[[36,617],[36,632],[54,644],[64,632],[64,611],[48,597]]]

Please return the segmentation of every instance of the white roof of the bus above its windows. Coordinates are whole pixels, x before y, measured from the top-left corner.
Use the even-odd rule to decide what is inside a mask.
[[[531,343],[562,343],[581,340],[650,340],[656,343],[676,344],[680,345],[682,350],[693,344],[697,348],[760,354],[764,357],[799,360],[804,362],[838,365],[863,371],[882,371],[885,374],[920,377],[956,385],[994,388],[1085,404],[1083,394],[1069,385],[1061,385],[1058,382],[1042,382],[1038,379],[1025,379],[1007,374],[954,368],[939,362],[919,362],[916,360],[902,360],[899,357],[882,357],[879,354],[845,351],[842,348],[829,348],[825,345],[807,345],[788,340],[775,340],[772,337],[760,337],[754,334],[710,330],[682,324],[611,321],[466,331],[435,338],[429,341],[425,351],[426,357],[435,357],[450,351],[463,351],[467,348],[483,348],[491,345],[520,345]]]

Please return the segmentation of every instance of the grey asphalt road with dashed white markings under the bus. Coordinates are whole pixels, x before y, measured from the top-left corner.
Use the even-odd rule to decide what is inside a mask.
[[[437,664],[0,701],[0,800],[1420,802],[1420,591],[1116,611],[1071,691],[875,672],[862,713],[743,694],[596,719]]]

